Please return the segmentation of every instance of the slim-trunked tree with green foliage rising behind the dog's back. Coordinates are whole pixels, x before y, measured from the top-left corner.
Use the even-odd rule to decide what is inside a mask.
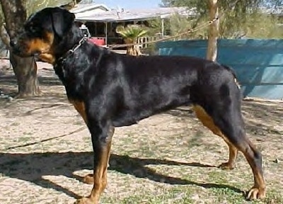
[[[250,23],[250,19],[256,21],[254,16],[259,17],[262,15],[265,22],[267,22],[266,19],[269,19],[269,22],[272,22],[274,21],[274,17],[267,16],[267,14],[259,12],[260,6],[275,8],[282,5],[282,3],[283,1],[279,0],[163,0],[163,6],[187,6],[188,8],[196,8],[197,15],[195,25],[200,21],[212,21],[213,18],[219,17],[220,13],[221,23],[219,23],[219,21],[214,21],[214,23],[209,26],[207,36],[209,39],[207,46],[207,59],[213,61],[216,60],[216,42],[219,35],[221,38],[238,38],[241,37],[241,35],[247,35],[248,33],[255,34],[255,30],[263,30],[267,26],[263,26],[263,28],[255,28],[255,23]],[[208,13],[209,16],[207,15]],[[260,13],[260,15],[258,15],[258,13]],[[276,33],[275,29],[272,28],[276,25],[276,23],[267,24],[268,28],[265,30],[265,35],[270,36],[270,33]],[[200,32],[207,34],[206,30],[207,29],[204,29]]]

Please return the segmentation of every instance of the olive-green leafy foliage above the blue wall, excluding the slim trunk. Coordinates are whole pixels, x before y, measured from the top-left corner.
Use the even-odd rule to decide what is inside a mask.
[[[187,6],[196,8],[199,13],[196,18],[174,17],[171,21],[172,33],[181,33],[182,30],[194,28],[200,23],[209,21],[208,3],[209,1],[202,0],[163,0],[163,6]],[[275,8],[282,4],[282,0],[219,0],[219,37],[282,38],[282,28],[278,26],[279,19],[259,10],[260,6]],[[207,29],[202,29],[190,36],[191,38],[207,38],[207,35]]]

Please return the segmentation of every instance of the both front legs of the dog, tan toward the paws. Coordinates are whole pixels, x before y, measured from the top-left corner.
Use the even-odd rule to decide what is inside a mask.
[[[102,126],[97,122],[90,122],[88,120],[93,143],[93,174],[88,174],[84,181],[93,183],[93,189],[90,196],[76,200],[76,204],[98,204],[100,195],[107,184],[107,167],[114,128],[110,125]]]

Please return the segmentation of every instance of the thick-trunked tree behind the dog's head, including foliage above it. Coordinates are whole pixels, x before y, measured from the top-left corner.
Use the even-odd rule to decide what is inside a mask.
[[[6,32],[4,32],[4,27],[1,26],[1,39],[7,47],[9,47],[10,39],[16,37],[17,32],[22,29],[28,15],[33,13],[35,8],[40,9],[62,4],[66,8],[71,8],[76,4],[76,0],[1,0],[0,2],[6,23]],[[8,35],[5,33],[8,33]],[[40,87],[37,79],[35,58],[22,58],[10,52],[10,61],[18,82],[18,94],[16,98],[39,95]]]

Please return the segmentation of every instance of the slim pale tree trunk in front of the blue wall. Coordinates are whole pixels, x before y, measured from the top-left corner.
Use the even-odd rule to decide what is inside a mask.
[[[218,17],[219,11],[217,0],[209,0],[209,17],[210,21]],[[215,61],[217,57],[217,38],[219,35],[219,20],[214,21],[209,26],[209,38],[207,45],[207,60]]]

